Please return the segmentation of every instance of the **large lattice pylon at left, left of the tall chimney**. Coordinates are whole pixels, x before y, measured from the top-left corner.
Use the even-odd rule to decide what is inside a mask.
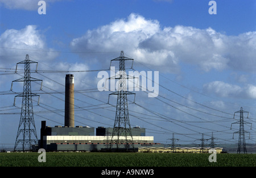
[[[22,97],[22,107],[20,113],[20,121],[18,127],[18,133],[16,135],[16,141],[14,146],[14,151],[16,150],[19,143],[22,144],[22,150],[32,150],[32,143],[38,143],[38,137],[36,135],[36,127],[34,121],[34,113],[33,113],[33,105],[32,105],[32,97],[37,96],[38,94],[34,94],[31,92],[31,81],[42,81],[37,78],[30,77],[30,64],[36,63],[36,69],[38,67],[38,63],[35,61],[31,61],[26,55],[26,59],[16,64],[16,69],[18,64],[24,64],[24,77],[19,78],[18,80],[14,80],[13,82],[23,82],[23,93],[18,94],[16,97]],[[13,82],[11,83],[11,90],[13,90]],[[41,83],[42,89],[42,83]],[[15,105],[14,98],[14,105]],[[39,102],[39,99],[38,99]]]

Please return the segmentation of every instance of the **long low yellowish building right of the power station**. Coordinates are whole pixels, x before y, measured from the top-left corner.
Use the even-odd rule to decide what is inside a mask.
[[[209,152],[209,150],[212,148],[204,148],[204,152]],[[220,154],[222,152],[222,148],[216,147],[214,148],[216,150],[217,154]],[[184,148],[179,148],[176,147],[174,150],[172,148],[163,148],[163,147],[140,147],[138,148],[138,152],[190,152],[190,153],[200,153],[202,152],[201,148],[196,148],[196,147],[184,147]]]

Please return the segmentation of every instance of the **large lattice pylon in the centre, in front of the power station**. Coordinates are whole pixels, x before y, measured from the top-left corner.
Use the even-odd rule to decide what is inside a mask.
[[[116,92],[109,94],[109,95],[117,95],[115,122],[113,127],[112,138],[110,141],[110,148],[113,147],[113,144],[116,144],[117,150],[119,148],[119,144],[124,144],[126,150],[128,150],[129,144],[131,145],[132,148],[134,148],[133,135],[131,134],[131,126],[130,126],[130,120],[129,120],[127,94],[135,94],[135,93],[127,92],[127,88],[126,88],[127,78],[134,78],[134,77],[129,77],[126,75],[126,72],[125,72],[126,60],[133,61],[133,59],[125,57],[123,55],[123,51],[121,51],[121,54],[119,57],[111,60],[111,62],[119,61],[118,74],[114,76],[114,78],[110,77],[110,79],[118,79],[118,89]]]

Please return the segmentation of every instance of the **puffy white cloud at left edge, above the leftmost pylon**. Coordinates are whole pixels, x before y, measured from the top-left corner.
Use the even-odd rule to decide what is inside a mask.
[[[44,36],[40,34],[40,31],[34,25],[28,25],[20,30],[6,30],[0,36],[0,44],[2,56],[25,57],[29,53],[36,59],[43,60],[52,60],[57,56],[56,52],[51,52],[53,49],[47,47]],[[10,58],[1,58],[1,60],[2,63],[10,63]]]

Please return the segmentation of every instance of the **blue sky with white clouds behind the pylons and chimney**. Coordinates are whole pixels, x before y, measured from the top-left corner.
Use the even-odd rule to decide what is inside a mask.
[[[23,61],[28,54],[36,132],[41,121],[64,125],[65,74],[75,76],[75,125],[113,127],[116,96],[97,88],[100,71],[110,74],[110,60],[121,51],[134,59],[126,72],[150,73],[156,97],[135,91],[129,96],[131,126],[146,128],[158,143],[200,144],[213,136],[217,144],[237,144],[240,115],[246,143],[255,143],[256,2],[222,0],[210,14],[209,0],[82,1],[0,0],[0,147],[13,147],[20,119]],[[117,61],[113,62],[118,71]],[[34,70],[34,72],[33,72]],[[59,72],[58,72],[59,71]],[[80,72],[79,72],[80,71]],[[88,71],[88,72],[85,72]],[[154,78],[155,77],[155,78]],[[158,82],[156,82],[158,81]],[[108,104],[109,101],[109,104]],[[232,125],[232,129],[230,129]],[[209,142],[209,141],[206,141]]]

